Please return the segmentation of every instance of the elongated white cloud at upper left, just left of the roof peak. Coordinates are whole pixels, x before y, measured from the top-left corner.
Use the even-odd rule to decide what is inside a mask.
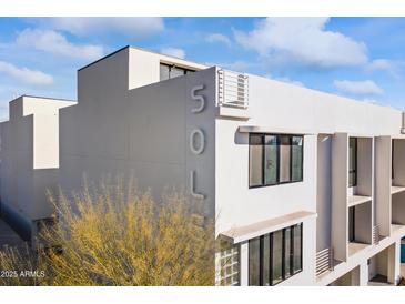
[[[16,43],[20,47],[85,60],[99,59],[104,53],[101,45],[72,43],[64,36],[52,30],[26,29],[18,34]]]

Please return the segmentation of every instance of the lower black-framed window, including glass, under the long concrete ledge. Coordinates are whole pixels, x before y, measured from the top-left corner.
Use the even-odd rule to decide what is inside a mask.
[[[272,286],[302,271],[302,226],[249,241],[249,285]]]

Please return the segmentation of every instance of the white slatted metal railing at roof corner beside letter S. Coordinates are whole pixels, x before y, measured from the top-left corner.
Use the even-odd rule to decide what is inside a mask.
[[[219,70],[217,105],[246,109],[249,105],[249,77]]]

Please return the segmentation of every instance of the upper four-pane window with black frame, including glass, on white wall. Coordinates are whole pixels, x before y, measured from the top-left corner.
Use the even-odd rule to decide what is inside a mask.
[[[249,186],[303,181],[303,136],[251,133]]]

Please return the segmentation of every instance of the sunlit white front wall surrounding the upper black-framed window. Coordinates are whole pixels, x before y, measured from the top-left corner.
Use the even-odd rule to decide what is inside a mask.
[[[332,138],[322,144],[320,139],[322,141],[338,132],[346,136],[399,134],[402,112],[254,75],[249,78],[249,110],[240,111],[245,111],[243,115],[250,119],[216,119],[216,234],[301,210],[317,212],[316,220],[304,221],[303,272],[281,285],[316,284],[315,254],[331,245],[331,220],[332,223],[336,222],[336,229],[343,230],[336,231],[334,235],[340,237],[337,245],[344,250],[342,259],[347,259],[347,178],[342,180],[342,176],[347,175],[347,170],[345,164],[336,161],[337,152],[333,154]],[[241,125],[260,126],[269,130],[269,133],[306,134],[303,182],[249,189],[249,134],[237,131]],[[345,150],[346,145],[343,146]],[[317,149],[321,149],[320,153]],[[367,154],[367,161],[372,159],[373,154]],[[342,207],[335,213],[332,207],[334,160],[336,168],[345,169],[342,174],[337,174],[336,181],[342,182],[343,196]],[[322,168],[318,168],[321,164]],[[373,168],[367,170],[372,172]],[[367,189],[372,191],[369,185]],[[338,216],[343,216],[343,222],[338,222]],[[316,222],[320,224],[317,229]],[[320,240],[318,244],[315,235]],[[247,246],[244,246],[244,254],[249,255],[246,250]],[[247,260],[243,261],[247,263]],[[361,268],[364,270],[364,265]],[[364,284],[364,274],[360,275],[363,275]],[[241,282],[247,284],[246,265],[242,265],[241,276]]]

